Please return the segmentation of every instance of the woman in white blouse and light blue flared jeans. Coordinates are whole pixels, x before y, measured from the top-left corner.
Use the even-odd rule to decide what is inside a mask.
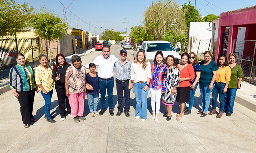
[[[151,66],[146,60],[146,54],[139,50],[131,65],[131,82],[133,83],[136,97],[135,119],[147,119],[147,94],[149,82],[151,80]]]

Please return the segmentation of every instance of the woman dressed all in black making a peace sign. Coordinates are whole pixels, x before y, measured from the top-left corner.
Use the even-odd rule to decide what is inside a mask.
[[[65,120],[66,113],[71,115],[71,107],[65,90],[65,74],[69,66],[71,66],[71,64],[66,62],[63,54],[56,55],[56,64],[53,66],[52,79],[55,81],[55,89],[59,101],[60,119],[62,121]],[[67,111],[65,110],[65,106]]]

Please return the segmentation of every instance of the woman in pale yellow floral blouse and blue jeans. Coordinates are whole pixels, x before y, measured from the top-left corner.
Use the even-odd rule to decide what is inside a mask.
[[[55,123],[54,116],[50,115],[50,106],[55,82],[52,79],[52,68],[48,65],[45,55],[39,56],[39,66],[35,69],[35,83],[45,100],[46,121]]]

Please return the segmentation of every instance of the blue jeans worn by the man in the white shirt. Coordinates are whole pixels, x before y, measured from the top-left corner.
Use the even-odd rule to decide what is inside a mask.
[[[114,78],[106,81],[99,78],[99,91],[101,93],[101,109],[106,110],[106,90],[108,92],[108,105],[109,110],[113,110],[113,88],[114,88]]]

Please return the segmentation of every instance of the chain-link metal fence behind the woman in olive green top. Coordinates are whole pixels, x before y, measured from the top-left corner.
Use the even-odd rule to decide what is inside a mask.
[[[242,67],[244,79],[256,84],[256,40],[236,40],[233,42],[233,51],[237,55],[237,64]]]

